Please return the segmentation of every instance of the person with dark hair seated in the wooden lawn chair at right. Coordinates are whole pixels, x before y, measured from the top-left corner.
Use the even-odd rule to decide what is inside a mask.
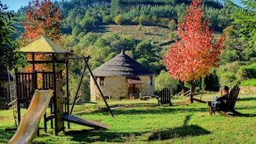
[[[218,110],[221,109],[222,107],[224,107],[224,100],[229,100],[229,98],[227,97],[229,95],[229,87],[224,86],[221,87],[221,91],[222,91],[222,97],[213,97],[214,102],[211,103],[212,107],[214,110]]]

